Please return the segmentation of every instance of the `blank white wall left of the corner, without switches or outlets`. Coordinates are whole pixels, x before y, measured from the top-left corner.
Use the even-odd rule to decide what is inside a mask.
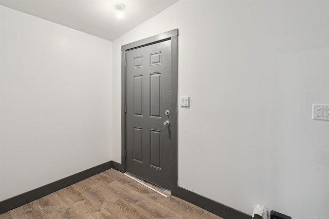
[[[0,201],[111,161],[112,42],[0,6]]]

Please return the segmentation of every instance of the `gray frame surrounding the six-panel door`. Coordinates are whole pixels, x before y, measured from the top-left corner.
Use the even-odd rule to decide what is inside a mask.
[[[151,44],[160,43],[170,39],[171,41],[171,100],[172,100],[172,112],[170,112],[172,121],[170,121],[171,128],[171,150],[170,150],[170,179],[171,179],[171,194],[177,195],[177,37],[178,29],[160,33],[155,36],[141,39],[139,41],[126,44],[121,46],[121,169],[122,172],[126,171],[126,146],[125,146],[125,135],[126,135],[126,121],[125,121],[125,108],[126,108],[126,52],[128,50],[137,49],[140,47],[148,46]]]

